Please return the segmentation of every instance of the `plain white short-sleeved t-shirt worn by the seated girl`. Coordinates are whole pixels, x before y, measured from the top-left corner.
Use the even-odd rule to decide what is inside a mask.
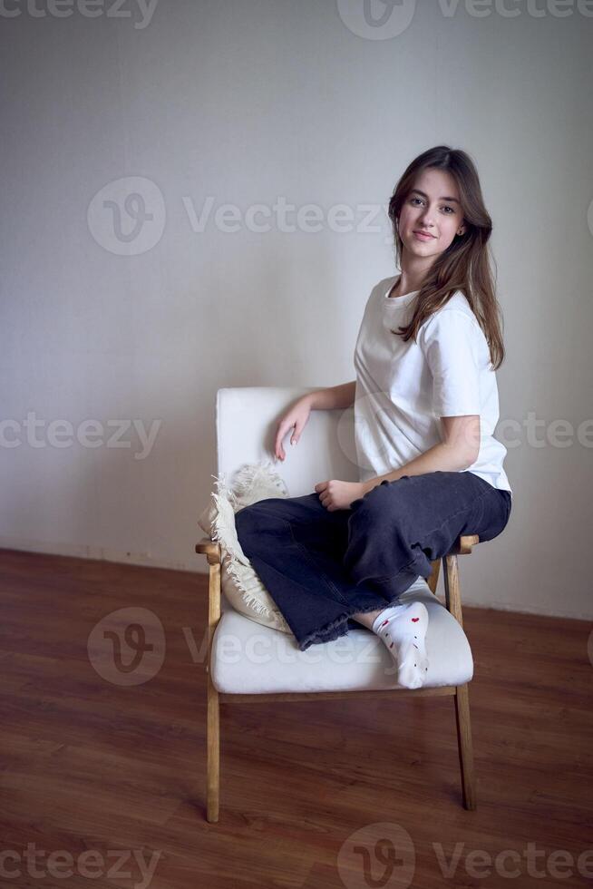
[[[407,342],[390,328],[409,323],[418,290],[389,297],[399,276],[373,288],[355,346],[355,449],[359,481],[409,463],[442,441],[442,416],[480,415],[481,444],[471,472],[512,495],[493,437],[499,420],[496,373],[486,337],[461,290]]]

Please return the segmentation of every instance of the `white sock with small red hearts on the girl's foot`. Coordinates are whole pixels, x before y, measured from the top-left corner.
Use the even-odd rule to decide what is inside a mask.
[[[424,684],[429,661],[424,638],[428,611],[423,602],[388,605],[373,622],[373,632],[382,639],[397,663],[397,681],[406,689]]]

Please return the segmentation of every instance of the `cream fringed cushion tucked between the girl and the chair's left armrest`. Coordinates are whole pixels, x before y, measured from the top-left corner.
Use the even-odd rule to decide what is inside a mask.
[[[220,585],[230,604],[241,614],[273,630],[292,633],[238,542],[235,513],[243,506],[267,497],[288,497],[287,485],[271,468],[271,462],[244,464],[231,477],[213,475],[217,493],[201,513],[198,523],[211,540],[218,541],[222,565]]]

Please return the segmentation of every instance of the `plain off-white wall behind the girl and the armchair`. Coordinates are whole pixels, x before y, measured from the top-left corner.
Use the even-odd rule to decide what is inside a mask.
[[[464,598],[593,617],[593,450],[576,440],[593,416],[588,6],[404,3],[390,37],[364,35],[362,0],[158,0],[150,18],[131,0],[129,17],[112,0],[96,18],[6,5],[0,378],[5,440],[22,443],[0,447],[0,545],[204,571],[216,390],[354,379],[366,298],[395,272],[385,217],[356,230],[362,207],[448,143],[477,161],[494,220],[501,422],[534,412],[543,435],[556,419],[575,431],[536,447],[523,429],[510,448],[510,523],[462,563]],[[152,191],[118,192],[130,177]],[[124,214],[122,247],[102,200],[130,190],[152,219],[136,238]],[[278,198],[315,203],[321,230],[279,230],[273,210],[266,233],[190,223],[207,199],[213,215]],[[327,224],[338,204],[348,232]],[[133,429],[129,448],[107,446],[112,427],[96,448],[51,445],[58,419],[161,422],[136,459]]]

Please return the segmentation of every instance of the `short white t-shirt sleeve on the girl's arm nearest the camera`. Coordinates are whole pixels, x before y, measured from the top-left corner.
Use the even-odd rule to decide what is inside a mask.
[[[480,333],[477,322],[456,309],[436,312],[421,328],[435,415],[480,414]]]

